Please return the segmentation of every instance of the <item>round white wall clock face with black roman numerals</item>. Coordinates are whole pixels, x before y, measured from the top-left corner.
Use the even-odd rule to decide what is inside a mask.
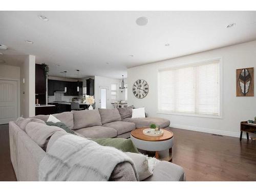
[[[133,84],[133,94],[135,97],[142,99],[144,98],[148,93],[148,84],[143,79],[138,79]]]

